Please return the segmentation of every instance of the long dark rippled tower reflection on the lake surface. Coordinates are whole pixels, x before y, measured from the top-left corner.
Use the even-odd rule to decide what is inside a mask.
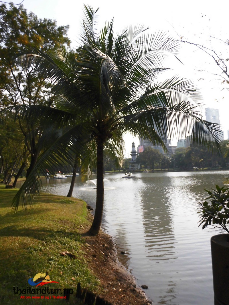
[[[144,188],[141,188],[145,243],[147,257],[150,260],[173,260],[176,258],[173,244],[176,242],[173,234],[173,221],[167,200],[167,179],[157,177],[157,184],[152,183],[152,177],[143,177]]]

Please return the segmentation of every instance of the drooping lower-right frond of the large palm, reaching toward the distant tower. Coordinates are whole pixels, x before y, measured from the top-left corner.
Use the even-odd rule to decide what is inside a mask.
[[[150,130],[162,138],[163,142],[166,142],[167,138],[190,137],[191,142],[220,150],[222,134],[219,131],[219,124],[203,120],[196,107],[191,107],[189,102],[181,102],[170,108],[147,106],[135,115],[126,116],[125,120],[126,125],[133,125],[135,122],[140,126],[146,124]],[[128,126],[128,128],[131,127]],[[143,132],[146,133],[144,128]],[[154,138],[149,139],[152,142],[155,141]]]

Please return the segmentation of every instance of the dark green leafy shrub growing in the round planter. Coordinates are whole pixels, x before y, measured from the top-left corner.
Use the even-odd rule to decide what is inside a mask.
[[[203,224],[203,229],[208,225],[221,227],[229,233],[227,228],[229,224],[229,188],[224,186],[220,188],[216,185],[216,190],[205,191],[209,197],[204,202],[199,202],[201,205],[199,226]]]

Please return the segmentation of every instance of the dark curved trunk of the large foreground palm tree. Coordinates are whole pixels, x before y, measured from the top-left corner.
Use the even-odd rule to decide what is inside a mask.
[[[104,142],[101,138],[97,140],[97,184],[96,184],[96,209],[95,216],[89,233],[97,235],[100,231],[100,226],[103,216],[104,207]]]

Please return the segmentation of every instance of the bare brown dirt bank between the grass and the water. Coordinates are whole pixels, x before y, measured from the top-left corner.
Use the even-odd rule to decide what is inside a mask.
[[[152,303],[136,284],[134,276],[118,261],[117,249],[110,235],[100,231],[97,236],[82,233],[82,237],[85,239],[85,258],[102,286],[101,297],[113,305]]]

